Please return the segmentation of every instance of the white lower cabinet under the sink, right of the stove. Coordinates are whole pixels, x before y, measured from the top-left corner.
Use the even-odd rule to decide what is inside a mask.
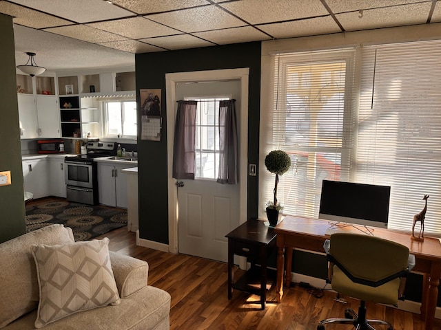
[[[99,162],[98,164],[98,200],[99,203],[127,208],[127,174],[124,168],[133,164],[114,164]]]

